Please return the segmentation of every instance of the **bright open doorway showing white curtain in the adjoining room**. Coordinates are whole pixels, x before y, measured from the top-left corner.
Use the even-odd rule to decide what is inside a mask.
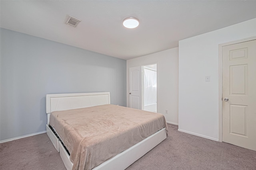
[[[142,66],[142,110],[157,112],[157,64]]]

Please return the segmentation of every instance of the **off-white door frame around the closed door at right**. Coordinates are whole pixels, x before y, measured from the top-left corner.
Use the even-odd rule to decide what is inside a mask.
[[[219,44],[219,142],[222,142],[222,47],[255,40],[256,36]]]

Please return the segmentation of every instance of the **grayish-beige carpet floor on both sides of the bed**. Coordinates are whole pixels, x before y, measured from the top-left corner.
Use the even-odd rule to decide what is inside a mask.
[[[256,170],[256,151],[177,131],[126,170]],[[0,144],[0,170],[64,170],[46,133]]]

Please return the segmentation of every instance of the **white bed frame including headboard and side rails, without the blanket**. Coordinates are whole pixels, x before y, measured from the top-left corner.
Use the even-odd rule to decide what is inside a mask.
[[[69,155],[64,149],[63,145],[48,126],[50,113],[52,111],[78,109],[83,107],[100,106],[104,104],[110,104],[110,92],[46,95],[46,113],[48,118],[46,133],[52,141],[55,149],[60,152],[60,157],[62,158],[67,170],[71,170],[73,164],[70,161]],[[165,128],[125,150],[124,152],[114,156],[110,160],[100,164],[94,168],[94,170],[124,170],[148,151],[156,147],[156,145],[161,143],[164,139],[166,139]]]

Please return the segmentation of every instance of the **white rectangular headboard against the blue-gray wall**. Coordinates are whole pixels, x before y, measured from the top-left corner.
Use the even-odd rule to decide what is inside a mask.
[[[52,111],[79,109],[84,107],[100,106],[104,104],[110,104],[110,92],[47,94],[47,124],[49,124],[50,113]]]

